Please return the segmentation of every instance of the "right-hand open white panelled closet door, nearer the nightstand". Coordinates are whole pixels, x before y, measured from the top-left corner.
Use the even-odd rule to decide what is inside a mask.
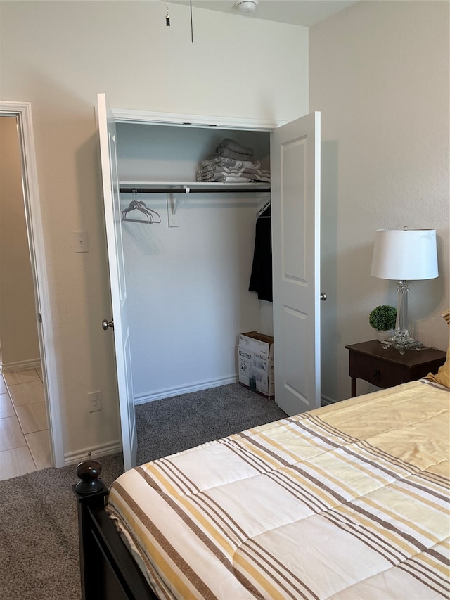
[[[275,399],[289,415],[320,407],[320,113],[271,140]]]

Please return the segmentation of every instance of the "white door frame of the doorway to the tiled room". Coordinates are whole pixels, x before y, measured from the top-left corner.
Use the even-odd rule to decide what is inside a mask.
[[[37,180],[36,154],[32,127],[31,104],[29,102],[0,101],[0,116],[17,117],[20,151],[22,155],[23,196],[25,220],[27,222],[28,245],[34,300],[36,305],[37,331],[44,378],[49,440],[53,466],[64,466],[63,436],[61,430],[56,361],[53,349],[53,331],[49,301],[49,284],[46,272],[44,235],[42,233],[41,205]],[[41,322],[39,322],[39,314]]]

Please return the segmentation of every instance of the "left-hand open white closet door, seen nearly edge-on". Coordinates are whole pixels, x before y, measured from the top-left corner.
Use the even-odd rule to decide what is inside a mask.
[[[103,202],[113,305],[115,358],[119,391],[120,426],[125,469],[136,466],[137,435],[134,413],[131,351],[127,318],[127,282],[117,175],[117,136],[115,118],[106,105],[105,94],[98,94],[98,133],[100,136]],[[110,319],[108,319],[109,321]],[[100,324],[98,324],[100,326]]]

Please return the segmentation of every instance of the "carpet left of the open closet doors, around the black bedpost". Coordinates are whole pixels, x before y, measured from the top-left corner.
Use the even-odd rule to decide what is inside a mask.
[[[107,485],[122,454],[101,459]],[[79,600],[75,466],[0,481],[1,600]]]

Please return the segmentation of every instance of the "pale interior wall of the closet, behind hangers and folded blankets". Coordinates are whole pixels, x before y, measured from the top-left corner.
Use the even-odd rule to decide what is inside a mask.
[[[270,168],[269,132],[117,123],[120,181],[193,182],[224,137],[255,148]],[[165,193],[143,200],[160,224],[122,222],[136,403],[236,381],[237,336],[271,334],[271,302],[248,291],[255,223],[268,193],[181,194],[169,226]]]

